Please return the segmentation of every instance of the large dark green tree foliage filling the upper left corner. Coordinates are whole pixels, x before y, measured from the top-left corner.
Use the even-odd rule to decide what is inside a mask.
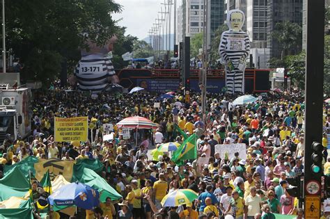
[[[103,44],[117,31],[113,0],[6,1],[7,48],[24,63],[23,79],[54,79],[61,63],[77,63],[86,35]]]

